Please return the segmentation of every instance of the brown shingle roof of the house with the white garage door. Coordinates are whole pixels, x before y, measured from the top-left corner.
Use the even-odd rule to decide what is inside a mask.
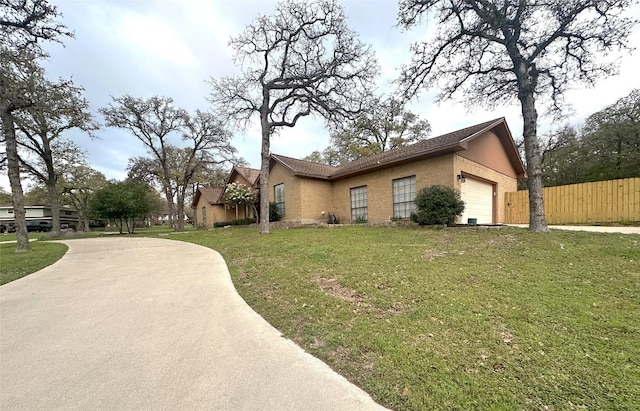
[[[321,179],[338,179],[353,174],[368,172],[370,170],[386,167],[392,164],[413,161],[417,158],[464,150],[466,148],[464,143],[500,124],[503,124],[506,132],[509,133],[505,119],[498,118],[423,140],[410,146],[400,147],[385,151],[384,153],[363,157],[358,160],[342,164],[338,167],[314,163],[311,161],[298,160],[296,158],[281,156],[278,154],[272,154],[271,157],[273,160],[278,161],[280,164],[290,169],[291,172],[296,175]],[[514,153],[515,155],[512,153],[510,157],[515,157],[515,160],[512,159],[512,161],[518,162],[521,167],[522,162],[519,159],[517,152],[514,151]],[[522,169],[522,172],[524,172],[524,169]]]

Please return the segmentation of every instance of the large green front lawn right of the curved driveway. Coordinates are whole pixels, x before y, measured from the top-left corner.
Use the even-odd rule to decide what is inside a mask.
[[[258,313],[390,408],[640,408],[640,236],[234,227],[179,239],[220,251]]]

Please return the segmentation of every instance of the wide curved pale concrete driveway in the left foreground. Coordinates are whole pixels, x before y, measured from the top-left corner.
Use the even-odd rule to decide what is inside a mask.
[[[0,287],[0,409],[383,409],[251,310],[217,252],[64,243]]]

